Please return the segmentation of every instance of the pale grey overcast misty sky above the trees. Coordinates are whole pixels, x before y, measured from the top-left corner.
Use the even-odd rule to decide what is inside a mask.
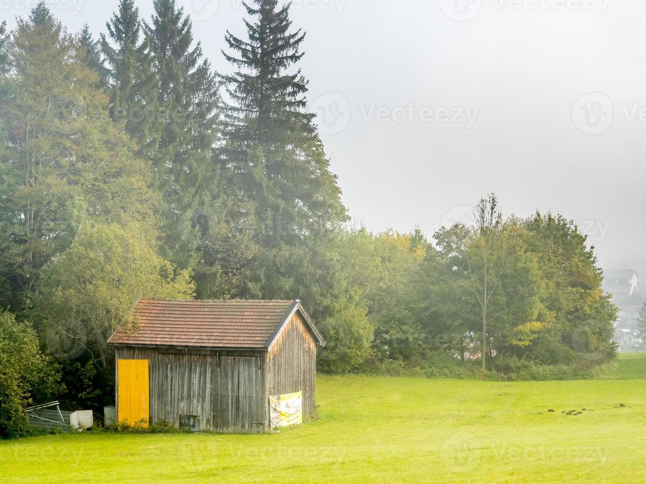
[[[0,0],[15,25],[32,0]],[[50,0],[98,34],[117,0]],[[152,0],[136,1],[149,18]],[[178,0],[214,69],[240,0]],[[351,216],[432,235],[495,192],[561,212],[605,267],[646,267],[644,0],[295,0],[301,68]]]

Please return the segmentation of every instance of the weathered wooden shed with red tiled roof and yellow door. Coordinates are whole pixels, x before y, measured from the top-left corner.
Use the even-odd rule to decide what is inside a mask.
[[[325,340],[300,301],[141,300],[132,316],[109,339],[118,421],[260,433],[314,412]]]

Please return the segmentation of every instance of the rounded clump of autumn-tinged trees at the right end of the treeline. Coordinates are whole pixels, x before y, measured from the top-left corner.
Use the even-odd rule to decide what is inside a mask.
[[[536,214],[500,217],[490,229],[498,233],[483,237],[481,227],[456,225],[435,236],[427,269],[435,277],[424,300],[437,327],[458,343],[453,350],[473,356],[484,341],[488,358],[548,365],[611,358],[616,308],[603,294],[601,270],[576,225]],[[494,236],[486,248],[486,237]]]

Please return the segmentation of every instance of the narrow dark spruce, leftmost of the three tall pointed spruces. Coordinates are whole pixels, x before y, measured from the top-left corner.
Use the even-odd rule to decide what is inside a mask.
[[[159,83],[134,1],[121,0],[106,28],[101,50],[109,65],[110,114],[125,123],[126,132],[139,145],[138,154],[151,160],[163,120],[157,104]]]

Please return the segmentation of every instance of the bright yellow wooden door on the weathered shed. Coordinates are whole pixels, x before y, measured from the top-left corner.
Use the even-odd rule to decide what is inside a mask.
[[[147,359],[120,359],[117,362],[117,418],[129,425],[148,427],[149,378]]]

